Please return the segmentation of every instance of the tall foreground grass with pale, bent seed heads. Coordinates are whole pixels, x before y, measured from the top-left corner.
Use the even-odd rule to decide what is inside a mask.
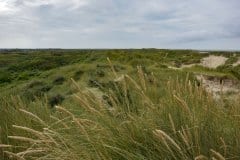
[[[159,86],[140,67],[138,77],[122,77],[105,100],[73,81],[78,108],[2,100],[0,157],[240,159],[239,101],[216,102],[188,78]]]

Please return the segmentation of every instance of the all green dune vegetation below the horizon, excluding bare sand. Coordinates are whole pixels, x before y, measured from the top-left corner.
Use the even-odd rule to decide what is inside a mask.
[[[201,66],[209,55],[226,63]],[[216,98],[196,78],[211,75],[239,87],[238,57],[157,49],[1,51],[0,159],[240,159],[239,94]]]

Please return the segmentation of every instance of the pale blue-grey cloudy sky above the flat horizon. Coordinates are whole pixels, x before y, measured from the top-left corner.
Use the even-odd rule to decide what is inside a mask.
[[[240,50],[240,0],[0,0],[0,48]]]

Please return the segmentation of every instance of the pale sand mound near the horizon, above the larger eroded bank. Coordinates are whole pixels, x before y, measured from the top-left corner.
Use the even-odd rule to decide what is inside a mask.
[[[201,65],[208,68],[217,68],[224,65],[228,58],[223,56],[210,55],[202,59]]]

